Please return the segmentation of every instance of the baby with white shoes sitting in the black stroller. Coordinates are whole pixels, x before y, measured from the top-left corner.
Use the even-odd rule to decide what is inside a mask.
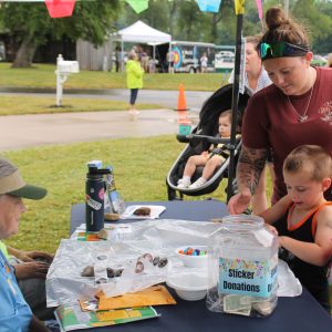
[[[231,133],[231,110],[220,113],[218,118],[218,133],[221,138],[229,138]],[[237,139],[240,135],[237,135]],[[200,155],[190,156],[187,160],[183,178],[178,180],[178,189],[197,189],[205,185],[207,180],[214,175],[215,170],[222,165],[229,157],[229,151],[225,143],[218,145],[211,144],[208,151],[203,152]],[[191,177],[196,168],[204,166],[201,176],[191,184]]]

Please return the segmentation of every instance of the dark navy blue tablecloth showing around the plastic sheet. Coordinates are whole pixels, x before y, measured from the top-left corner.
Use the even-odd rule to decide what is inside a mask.
[[[227,215],[227,207],[221,201],[135,201],[128,205],[164,205],[163,219],[185,219],[209,221]],[[84,204],[74,205],[71,211],[71,232],[84,222]],[[121,220],[131,222],[133,220]],[[117,221],[118,222],[118,221]],[[145,320],[123,325],[100,328],[96,331],[135,331],[135,332],[332,332],[331,317],[303,289],[297,298],[279,298],[274,312],[262,319],[215,313],[206,308],[205,300],[188,302],[180,300],[170,290],[177,301],[176,305],[155,307],[162,314],[158,319]],[[87,331],[87,330],[80,330]]]

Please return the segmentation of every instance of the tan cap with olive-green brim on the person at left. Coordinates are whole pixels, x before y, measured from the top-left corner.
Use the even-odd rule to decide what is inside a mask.
[[[0,195],[8,194],[29,199],[42,199],[48,190],[25,184],[18,167],[0,156]]]

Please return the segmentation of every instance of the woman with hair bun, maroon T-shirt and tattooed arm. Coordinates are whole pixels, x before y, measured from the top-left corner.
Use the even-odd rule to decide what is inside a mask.
[[[276,173],[272,204],[287,195],[282,164],[292,149],[312,144],[332,154],[332,71],[310,65],[313,54],[308,34],[282,9],[270,8],[266,22],[268,30],[258,51],[273,84],[250,97],[245,112],[239,191],[229,200],[230,214],[248,207],[269,151]],[[332,200],[331,188],[325,198]]]

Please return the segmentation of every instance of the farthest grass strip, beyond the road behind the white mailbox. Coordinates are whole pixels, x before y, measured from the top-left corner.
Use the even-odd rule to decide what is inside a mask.
[[[55,90],[55,64],[34,64],[31,69],[11,69],[0,63],[0,87],[39,87]],[[216,91],[226,84],[228,75],[209,74],[145,74],[146,90]],[[126,89],[125,73],[81,71],[69,76],[65,89]]]

